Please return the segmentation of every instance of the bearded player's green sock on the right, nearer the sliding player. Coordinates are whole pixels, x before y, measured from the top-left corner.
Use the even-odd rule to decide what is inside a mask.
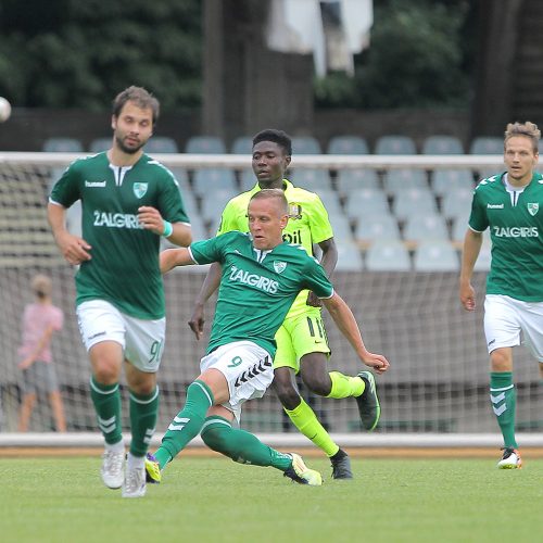
[[[159,387],[151,394],[142,395],[130,391],[130,429],[132,439],[130,453],[146,456],[159,416]]]

